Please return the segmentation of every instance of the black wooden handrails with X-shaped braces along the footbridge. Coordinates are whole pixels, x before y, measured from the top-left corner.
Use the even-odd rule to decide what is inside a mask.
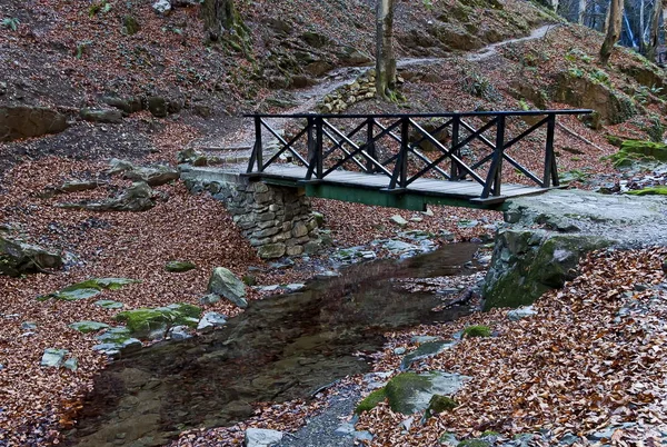
[[[502,162],[509,162],[519,172],[528,179],[537,183],[540,188],[549,188],[559,186],[558,169],[556,166],[556,156],[554,152],[554,138],[557,116],[588,115],[593,110],[589,109],[567,109],[567,110],[516,110],[516,111],[469,111],[469,112],[438,112],[438,113],[249,113],[247,118],[252,118],[255,121],[256,141],[247,172],[261,175],[269,165],[273,163],[283,152],[290,152],[298,162],[307,168],[307,173],[303,180],[318,181],[323,180],[334,170],[342,167],[346,162],[354,162],[361,171],[367,173],[380,173],[390,178],[386,190],[391,192],[401,192],[415,180],[424,177],[429,171],[436,171],[444,178],[458,181],[466,177],[478,182],[482,187],[481,199],[487,199],[489,196],[500,196],[501,189],[501,171]],[[479,129],[475,129],[464,118],[491,118]],[[506,141],[506,121],[508,117],[544,117],[527,130],[524,130],[519,136]],[[275,129],[271,128],[267,119],[306,119],[307,123],[296,137],[289,141],[282,138]],[[416,119],[419,118],[447,118],[449,119],[444,125],[437,127],[436,130],[425,130]],[[347,135],[331,125],[334,119],[362,119],[355,130]],[[379,120],[390,119],[394,122],[384,126]],[[532,173],[528,168],[521,166],[517,160],[505,152],[506,149],[516,145],[524,138],[528,137],[535,130],[542,126],[547,128],[545,143],[545,165],[541,179]],[[442,130],[451,127],[451,143],[446,147],[436,136]],[[496,128],[495,141],[492,137],[485,137],[484,132]],[[278,139],[281,148],[273,153],[265,163],[262,160],[262,128],[266,128],[270,135]],[[380,131],[376,133],[376,128]],[[416,142],[410,140],[410,129],[415,129],[419,138]],[[355,135],[366,129],[366,142],[356,143],[352,141]],[[468,132],[466,137],[460,136],[460,130]],[[295,148],[295,143],[301,138],[307,137],[308,155],[302,157]],[[380,160],[376,153],[376,142],[380,139],[389,137],[400,145],[398,153],[392,155],[387,160]],[[334,143],[332,148],[328,148],[325,152],[325,139]],[[479,140],[492,151],[481,160],[468,166],[461,158],[461,149],[471,141]],[[438,157],[430,160],[425,157],[417,148],[422,141],[429,142],[436,148]],[[345,146],[349,149],[346,149]],[[345,153],[342,159],[335,162],[325,169],[323,159],[329,157],[336,150]],[[412,155],[418,161],[422,162],[425,168],[418,170],[415,175],[408,173],[408,158]],[[357,157],[362,157],[360,161]],[[450,162],[450,172],[446,172],[439,165],[445,160]],[[478,175],[476,169],[490,161],[488,172]],[[394,163],[390,171],[389,165]],[[257,170],[255,170],[257,167]],[[315,180],[313,180],[315,177]]]

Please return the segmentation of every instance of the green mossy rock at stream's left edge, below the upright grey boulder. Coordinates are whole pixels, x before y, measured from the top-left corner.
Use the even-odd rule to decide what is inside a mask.
[[[200,315],[201,309],[197,306],[177,304],[155,309],[126,310],[118,314],[116,320],[125,322],[132,337],[160,338],[172,326],[186,325],[196,328]]]

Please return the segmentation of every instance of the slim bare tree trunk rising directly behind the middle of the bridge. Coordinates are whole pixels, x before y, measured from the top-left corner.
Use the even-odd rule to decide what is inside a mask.
[[[379,98],[387,98],[396,87],[394,56],[394,7],[396,0],[378,0],[376,10],[376,89]]]

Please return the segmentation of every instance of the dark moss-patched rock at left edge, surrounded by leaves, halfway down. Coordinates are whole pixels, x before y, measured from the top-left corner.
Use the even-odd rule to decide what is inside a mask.
[[[0,275],[18,277],[63,266],[60,255],[43,247],[0,236]]]

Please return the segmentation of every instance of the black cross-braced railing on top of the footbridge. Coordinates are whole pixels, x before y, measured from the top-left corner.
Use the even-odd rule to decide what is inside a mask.
[[[486,199],[500,196],[502,165],[507,162],[540,188],[550,188],[559,185],[554,153],[556,118],[590,112],[530,110],[414,115],[247,115],[255,120],[256,135],[247,172],[260,176],[271,165],[288,158],[307,168],[303,181],[325,180],[331,172],[348,166],[359,172],[386,176],[386,190],[390,192],[405,191],[415,180],[435,176],[450,181],[475,181],[482,187],[481,199]],[[528,128],[516,137],[509,136],[507,125],[510,118],[528,122],[522,125]],[[298,130],[293,137],[283,138],[271,127],[272,119],[298,122]],[[472,120],[486,122],[476,128]],[[341,126],[350,130],[341,130]],[[546,135],[541,132],[542,138],[538,138],[541,140],[538,145],[544,147],[544,166],[541,172],[534,173],[507,150],[520,141],[527,141],[527,137],[540,128],[546,128]],[[448,135],[448,138],[442,138],[442,135]],[[278,140],[279,149],[265,161],[262,140],[268,136]],[[530,140],[530,145],[535,146],[535,136]],[[422,143],[430,143],[430,148],[435,149],[430,158],[420,150]],[[470,152],[471,143],[486,149],[486,152],[479,153],[477,150],[475,157],[469,157],[467,152]]]

